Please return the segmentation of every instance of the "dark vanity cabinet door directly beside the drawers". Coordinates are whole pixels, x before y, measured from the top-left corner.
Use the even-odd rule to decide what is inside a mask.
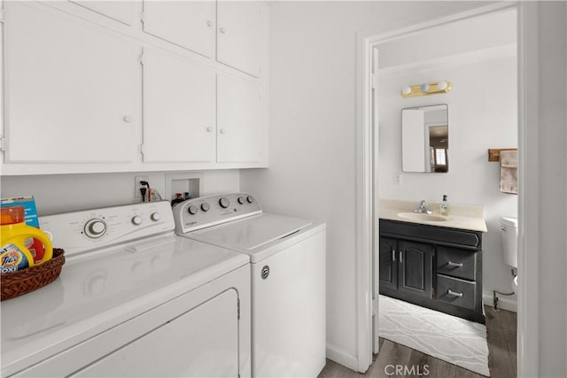
[[[431,244],[398,243],[398,289],[419,297],[431,298]]]

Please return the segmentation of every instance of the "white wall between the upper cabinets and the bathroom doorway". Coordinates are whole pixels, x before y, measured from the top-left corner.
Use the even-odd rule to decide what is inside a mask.
[[[328,357],[357,368],[356,32],[485,2],[273,2],[269,169],[241,171],[264,209],[327,222]]]

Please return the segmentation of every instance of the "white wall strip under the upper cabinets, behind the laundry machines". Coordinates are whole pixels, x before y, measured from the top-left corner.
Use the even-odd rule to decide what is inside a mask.
[[[203,174],[201,196],[239,189],[237,170],[203,171],[201,174]],[[164,199],[168,199],[165,196],[166,173],[162,172],[4,176],[0,182],[0,193],[3,198],[33,195],[37,212],[43,216],[136,203],[140,200],[134,197],[136,175],[149,176],[151,187],[158,189]]]

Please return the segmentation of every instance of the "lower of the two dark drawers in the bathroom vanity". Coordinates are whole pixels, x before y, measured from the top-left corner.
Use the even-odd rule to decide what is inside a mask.
[[[469,308],[470,310],[474,310],[477,305],[477,282],[437,274],[435,292],[437,299],[441,302]]]

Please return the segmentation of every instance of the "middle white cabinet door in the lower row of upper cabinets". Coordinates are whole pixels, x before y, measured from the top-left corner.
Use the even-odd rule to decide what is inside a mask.
[[[144,162],[214,159],[214,72],[144,49]]]

